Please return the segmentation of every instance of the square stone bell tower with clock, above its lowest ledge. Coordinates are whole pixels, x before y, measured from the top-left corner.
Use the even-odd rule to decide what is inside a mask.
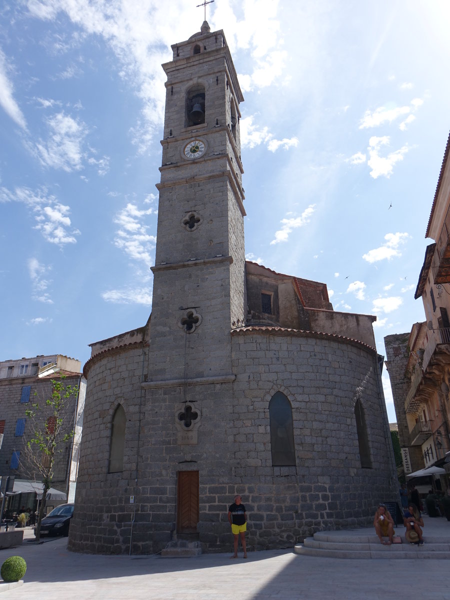
[[[223,31],[172,46],[151,315],[149,381],[227,376],[230,329],[244,325],[239,104]]]

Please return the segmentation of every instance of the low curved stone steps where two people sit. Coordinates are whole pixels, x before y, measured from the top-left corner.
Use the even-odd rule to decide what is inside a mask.
[[[341,559],[450,559],[450,539],[427,536],[422,546],[410,545],[404,536],[401,544],[382,545],[376,535],[349,535],[346,532],[317,532],[294,548],[296,554]]]

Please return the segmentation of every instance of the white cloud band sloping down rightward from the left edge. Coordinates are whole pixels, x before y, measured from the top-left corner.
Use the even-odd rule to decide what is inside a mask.
[[[29,188],[16,188],[14,192],[0,188],[0,202],[22,202],[34,214],[37,224],[34,229],[41,232],[50,244],[62,246],[75,244],[79,229],[71,228],[70,207],[56,200],[55,196],[47,195],[45,188],[36,192]]]

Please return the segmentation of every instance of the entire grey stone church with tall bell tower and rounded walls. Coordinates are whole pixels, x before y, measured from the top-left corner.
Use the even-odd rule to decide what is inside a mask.
[[[69,548],[251,550],[367,526],[397,498],[376,317],[245,261],[239,105],[223,31],[172,46],[152,313],[91,344]]]

